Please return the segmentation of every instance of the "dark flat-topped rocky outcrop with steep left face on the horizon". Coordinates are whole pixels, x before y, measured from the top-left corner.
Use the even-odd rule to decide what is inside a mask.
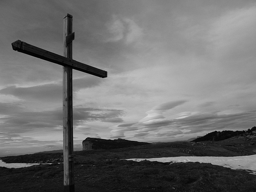
[[[141,146],[141,145],[150,145],[151,143],[146,142],[138,142],[138,141],[130,141],[125,139],[102,139],[102,138],[91,138],[87,137],[82,142],[83,144],[83,151],[90,151],[90,150],[112,150],[112,149],[119,149],[119,148],[127,148],[127,147],[134,147],[134,146]]]

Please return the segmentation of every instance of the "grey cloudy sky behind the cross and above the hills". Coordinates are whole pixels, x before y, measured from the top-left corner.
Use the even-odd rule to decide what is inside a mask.
[[[74,148],[87,137],[169,142],[256,126],[255,0],[1,0],[0,155],[62,148],[62,66],[73,16]]]

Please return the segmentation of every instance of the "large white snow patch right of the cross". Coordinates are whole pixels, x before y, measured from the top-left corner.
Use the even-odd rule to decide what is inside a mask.
[[[158,161],[158,162],[205,162],[213,165],[220,165],[223,167],[236,169],[236,170],[247,170],[250,174],[256,175],[256,155],[247,156],[236,156],[236,157],[160,157],[160,158],[149,158],[149,159],[126,159],[132,161]]]

